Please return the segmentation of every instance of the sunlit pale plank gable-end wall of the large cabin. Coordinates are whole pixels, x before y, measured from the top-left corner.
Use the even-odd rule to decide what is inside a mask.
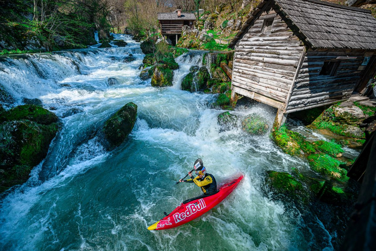
[[[261,33],[267,18],[274,18],[271,31]],[[277,8],[266,6],[237,43],[232,85],[285,103],[303,48]]]

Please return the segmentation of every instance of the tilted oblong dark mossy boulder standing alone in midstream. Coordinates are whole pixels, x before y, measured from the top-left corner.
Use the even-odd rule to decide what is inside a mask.
[[[129,102],[113,114],[102,129],[106,147],[112,149],[121,145],[135,125],[137,105]]]

